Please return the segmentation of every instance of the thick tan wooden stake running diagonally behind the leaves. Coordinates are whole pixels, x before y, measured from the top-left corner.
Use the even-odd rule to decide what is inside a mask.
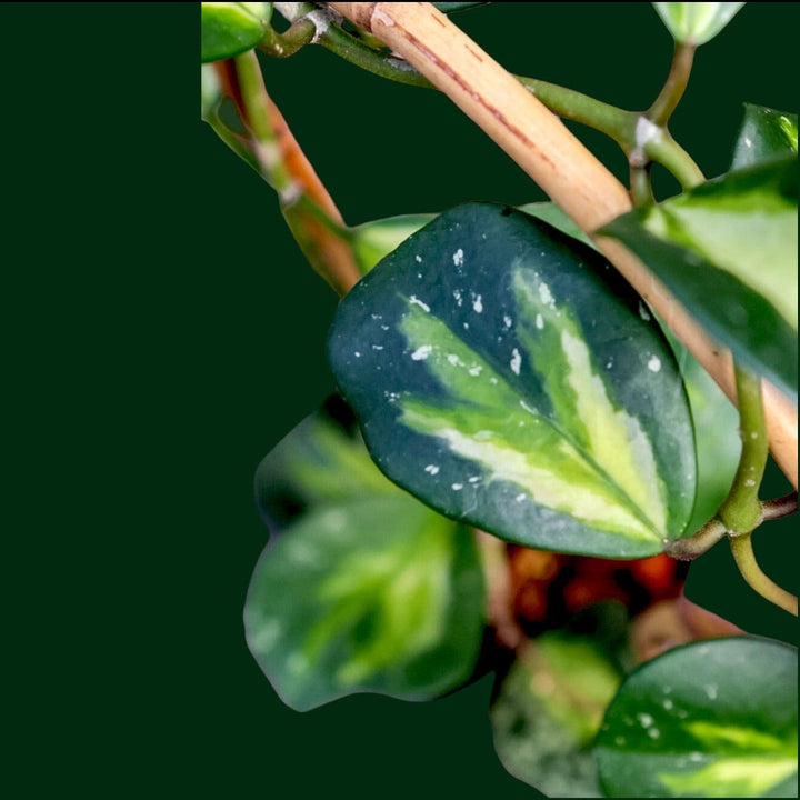
[[[624,187],[536,97],[430,3],[329,3],[402,56],[478,123],[579,226],[592,233],[629,211]],[[614,240],[596,242],[736,402],[730,353],[717,347],[647,267]],[[797,407],[770,384],[772,454],[798,484]]]

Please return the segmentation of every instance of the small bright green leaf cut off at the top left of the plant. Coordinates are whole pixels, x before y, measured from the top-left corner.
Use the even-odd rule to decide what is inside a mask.
[[[232,58],[263,37],[272,3],[201,3],[200,54],[203,63]]]

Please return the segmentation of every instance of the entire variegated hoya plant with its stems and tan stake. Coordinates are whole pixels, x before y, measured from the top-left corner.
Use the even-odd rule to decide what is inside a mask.
[[[797,616],[751,544],[797,510],[760,496],[770,449],[797,487],[797,116],[746,106],[707,180],[668,122],[743,3],[653,3],[676,47],[642,112],[510,76],[446,16],[479,4],[202,3],[203,119],[341,298],[338,391],[257,473],[249,647],[298,710],[493,669],[500,759],[550,797],[796,797],[796,649],[682,587],[727,539]],[[553,202],[347,226],[256,54],[312,43],[441,90]]]

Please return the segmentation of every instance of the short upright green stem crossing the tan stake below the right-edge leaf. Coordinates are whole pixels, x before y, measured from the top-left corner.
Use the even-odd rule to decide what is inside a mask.
[[[769,442],[760,378],[737,367],[736,384],[742,450],[733,484],[718,514],[730,536],[743,536],[761,523],[758,493],[767,467]]]

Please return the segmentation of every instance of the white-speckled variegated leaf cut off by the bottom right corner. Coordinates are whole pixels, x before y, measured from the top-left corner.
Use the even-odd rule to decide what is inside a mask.
[[[606,797],[797,797],[797,650],[736,637],[669,650],[606,713]]]

